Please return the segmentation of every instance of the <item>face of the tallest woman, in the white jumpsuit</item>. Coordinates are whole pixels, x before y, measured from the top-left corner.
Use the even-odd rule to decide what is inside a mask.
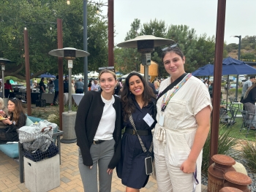
[[[172,80],[176,80],[185,72],[185,57],[181,58],[180,55],[173,51],[166,53],[165,57],[163,58],[163,63],[165,65],[166,72],[170,74]]]

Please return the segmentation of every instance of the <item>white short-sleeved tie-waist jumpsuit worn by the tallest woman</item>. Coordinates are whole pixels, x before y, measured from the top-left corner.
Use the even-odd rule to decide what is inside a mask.
[[[170,77],[161,82],[159,93],[170,85]],[[173,93],[167,91],[166,99]],[[157,121],[161,112],[162,96],[157,101]],[[195,115],[203,108],[210,106],[211,99],[206,85],[196,77],[189,80],[170,99],[165,109],[163,126],[155,126],[154,157],[157,173],[158,190],[162,192],[192,192],[193,174],[180,170],[181,164],[187,160],[192,148],[197,122]],[[212,107],[211,107],[212,108]],[[201,191],[202,153],[197,158],[197,180],[199,184],[195,191]]]

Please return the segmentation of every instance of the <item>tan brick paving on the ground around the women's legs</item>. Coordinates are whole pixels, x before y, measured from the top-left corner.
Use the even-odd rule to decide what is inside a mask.
[[[202,185],[202,189],[205,188]],[[25,183],[20,183],[18,163],[0,151],[0,192],[6,191],[26,192],[29,190],[26,188]],[[83,192],[83,184],[78,170],[78,146],[75,143],[61,143],[61,185],[51,191]],[[113,172],[111,191],[125,191],[125,186],[121,184],[121,180],[117,177],[115,171]],[[140,191],[157,191],[156,180],[150,177],[146,187]]]

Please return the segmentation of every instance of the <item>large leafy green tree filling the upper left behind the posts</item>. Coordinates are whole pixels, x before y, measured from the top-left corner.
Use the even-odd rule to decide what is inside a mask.
[[[88,4],[89,69],[108,63],[108,23],[104,15],[96,15],[94,4]],[[58,72],[57,58],[48,52],[57,49],[56,20],[62,19],[63,46],[83,50],[83,1],[10,0],[0,7],[0,57],[15,61],[6,67],[6,75],[25,79],[23,28],[29,31],[29,63],[31,78]],[[52,30],[50,30],[52,28]],[[67,64],[67,62],[64,62]],[[83,58],[74,61],[74,73],[83,73]],[[67,67],[64,67],[67,73]]]

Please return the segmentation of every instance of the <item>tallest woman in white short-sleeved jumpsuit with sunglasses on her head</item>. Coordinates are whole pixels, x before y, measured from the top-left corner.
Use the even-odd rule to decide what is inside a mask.
[[[177,45],[163,49],[162,61],[170,77],[161,82],[159,93],[185,73],[185,57]],[[191,74],[181,82],[157,101],[154,157],[162,192],[201,191],[202,149],[210,128],[211,99],[206,85]]]

